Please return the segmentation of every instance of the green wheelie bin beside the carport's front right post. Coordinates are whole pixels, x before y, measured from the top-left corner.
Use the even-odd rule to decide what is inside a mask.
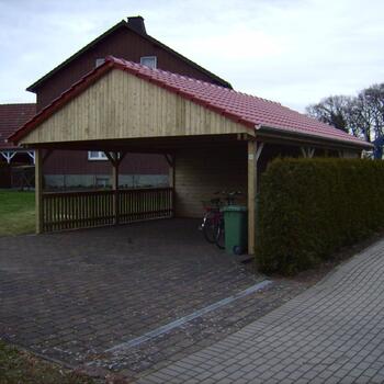
[[[225,250],[230,255],[241,255],[247,250],[248,226],[247,207],[227,205],[222,208],[224,214]]]

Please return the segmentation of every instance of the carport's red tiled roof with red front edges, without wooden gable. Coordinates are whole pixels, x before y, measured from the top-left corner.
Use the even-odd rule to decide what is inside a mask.
[[[278,102],[165,70],[151,69],[113,56],[109,56],[102,66],[89,72],[58,99],[42,110],[35,117],[12,135],[10,139],[19,142],[39,123],[55,113],[55,111],[60,109],[77,94],[81,93],[105,72],[114,68],[127,71],[158,87],[192,100],[197,104],[249,127],[252,132],[257,132],[257,135],[258,132],[268,132],[269,134],[283,133],[291,136],[310,137],[315,140],[342,143],[362,148],[371,147],[371,144],[366,142],[285,108]]]

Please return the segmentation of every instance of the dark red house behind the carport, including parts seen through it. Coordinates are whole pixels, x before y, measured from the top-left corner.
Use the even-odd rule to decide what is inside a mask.
[[[47,108],[109,55],[231,88],[148,35],[144,19],[135,16],[121,21],[30,86],[27,90],[36,94],[36,111]],[[0,118],[7,121],[7,116]],[[162,156],[131,154],[124,158],[121,173],[121,183],[127,187],[167,184],[168,163]],[[47,187],[104,185],[110,183],[111,165],[103,153],[57,150],[44,165],[44,174]]]

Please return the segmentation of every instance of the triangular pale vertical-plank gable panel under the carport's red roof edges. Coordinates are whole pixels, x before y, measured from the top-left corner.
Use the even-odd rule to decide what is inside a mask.
[[[249,133],[249,128],[146,80],[113,69],[21,143],[238,133]]]

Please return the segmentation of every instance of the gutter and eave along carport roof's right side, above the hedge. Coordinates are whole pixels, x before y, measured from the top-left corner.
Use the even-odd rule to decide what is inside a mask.
[[[268,126],[268,125],[256,125],[255,126],[256,134],[262,135],[263,133],[270,134],[271,136],[280,137],[280,138],[297,138],[297,139],[307,139],[308,142],[312,143],[318,143],[318,144],[325,144],[325,143],[331,143],[334,144],[335,147],[349,147],[352,149],[372,149],[373,145],[371,143],[366,142],[350,142],[350,140],[343,140],[342,138],[335,138],[335,137],[324,137],[324,136],[318,136],[318,135],[312,135],[312,134],[306,134],[306,133],[300,133],[300,132],[290,132],[285,131],[283,128],[279,127],[273,127],[273,126]]]

